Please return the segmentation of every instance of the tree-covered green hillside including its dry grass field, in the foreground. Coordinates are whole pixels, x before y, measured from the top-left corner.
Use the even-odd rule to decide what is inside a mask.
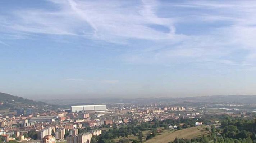
[[[195,120],[182,118],[142,123],[130,120],[127,124],[102,130],[91,143],[256,143],[255,119],[221,115],[200,120],[212,119],[219,119],[221,124],[195,127]],[[169,125],[178,125],[178,128],[169,129]]]

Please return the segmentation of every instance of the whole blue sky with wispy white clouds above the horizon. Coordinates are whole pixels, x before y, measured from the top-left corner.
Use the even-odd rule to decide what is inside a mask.
[[[2,0],[0,92],[256,95],[256,1]]]

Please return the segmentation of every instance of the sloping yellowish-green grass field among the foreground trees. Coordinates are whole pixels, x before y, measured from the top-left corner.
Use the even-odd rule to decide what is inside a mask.
[[[173,141],[176,137],[191,139],[194,137],[200,137],[202,135],[209,134],[210,132],[205,129],[204,126],[191,127],[182,130],[176,130],[175,132],[166,131],[156,137],[147,140],[144,143],[168,143]]]

